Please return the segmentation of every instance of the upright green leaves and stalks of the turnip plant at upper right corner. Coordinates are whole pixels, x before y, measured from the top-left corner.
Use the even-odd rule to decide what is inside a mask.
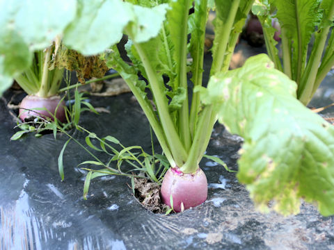
[[[334,1],[257,0],[253,13],[262,23],[268,53],[276,69],[296,81],[297,98],[307,105],[334,66],[334,33],[331,31]],[[281,27],[281,56],[273,40],[276,31],[271,25],[273,17]]]

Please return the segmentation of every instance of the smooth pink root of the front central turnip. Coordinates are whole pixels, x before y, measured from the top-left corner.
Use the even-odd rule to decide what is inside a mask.
[[[184,174],[178,167],[168,169],[161,185],[161,198],[171,207],[170,195],[173,198],[173,210],[177,213],[205,202],[207,177],[202,169],[198,168],[193,174]]]

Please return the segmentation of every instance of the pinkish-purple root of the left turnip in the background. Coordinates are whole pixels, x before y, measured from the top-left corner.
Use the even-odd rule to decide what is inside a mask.
[[[49,114],[49,112],[51,114],[54,114],[60,101],[61,97],[59,96],[44,98],[44,97],[37,97],[34,95],[27,95],[19,104],[19,118],[22,119],[23,122],[24,119],[31,116],[38,116],[44,118],[49,117],[52,120],[54,120],[54,118]],[[56,113],[56,118],[61,122],[65,122],[66,120],[64,107],[65,107],[65,102],[62,101],[61,104],[59,104]],[[42,109],[36,110],[36,108],[46,108],[47,110],[49,110],[49,112],[47,110],[42,110]],[[31,110],[35,110],[35,112]]]

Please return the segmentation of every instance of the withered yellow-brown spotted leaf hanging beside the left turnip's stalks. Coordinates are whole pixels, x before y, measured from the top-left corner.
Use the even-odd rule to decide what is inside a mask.
[[[85,83],[85,78],[102,78],[108,71],[106,63],[100,59],[100,56],[83,56],[77,51],[67,49],[63,44],[54,50],[49,69],[54,67],[77,72],[80,83]]]

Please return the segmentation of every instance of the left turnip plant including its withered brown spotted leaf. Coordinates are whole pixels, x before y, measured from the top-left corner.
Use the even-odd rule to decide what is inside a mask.
[[[64,69],[76,71],[80,83],[85,78],[100,78],[107,70],[98,56],[86,58],[61,42],[61,33],[74,18],[76,6],[76,1],[0,1],[0,94],[13,80],[28,94],[19,105],[23,122],[29,117],[71,122],[74,114],[65,113],[65,102],[58,95]],[[74,106],[81,102],[92,110],[81,97],[75,92]],[[79,112],[73,118],[77,124]]]

